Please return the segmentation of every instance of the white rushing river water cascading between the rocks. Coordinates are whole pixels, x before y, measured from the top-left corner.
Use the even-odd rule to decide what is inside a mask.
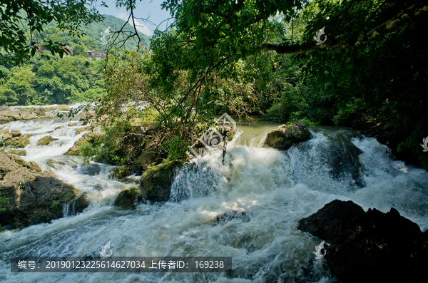
[[[63,128],[57,128],[63,125]],[[100,173],[81,173],[82,158],[65,156],[83,135],[60,119],[6,124],[31,133],[24,160],[34,160],[64,182],[87,192],[83,213],[51,223],[0,233],[1,282],[333,282],[325,259],[315,259],[322,240],[297,230],[297,221],[335,199],[352,200],[364,210],[401,215],[428,229],[428,173],[394,160],[374,138],[345,128],[311,128],[312,139],[287,151],[263,148],[277,123],[239,123],[240,137],[223,157],[207,155],[196,168],[175,171],[170,201],[113,207],[132,183]],[[55,128],[57,128],[55,130]],[[58,140],[36,146],[45,135]],[[56,169],[47,160],[61,161]],[[138,180],[137,176],[133,179]],[[215,224],[232,210],[245,217]],[[114,257],[230,256],[224,273],[11,273],[12,256],[98,255],[111,241]]]

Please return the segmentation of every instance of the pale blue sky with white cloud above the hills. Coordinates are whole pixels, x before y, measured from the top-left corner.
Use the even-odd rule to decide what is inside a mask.
[[[99,6],[101,1],[106,2],[108,8]],[[152,36],[153,30],[156,29],[156,26],[161,24],[165,19],[170,18],[168,11],[161,9],[161,4],[163,1],[164,0],[137,0],[136,9],[133,11],[134,16],[136,18],[148,19],[149,21],[153,22],[153,24],[150,22],[145,23],[141,19],[136,19],[136,27],[138,31],[141,31],[141,33],[148,36]],[[130,14],[130,12],[126,11],[125,8],[116,8],[114,0],[98,0],[96,4],[100,14],[116,16],[120,19],[123,19],[124,21],[128,19]],[[129,24],[133,25],[132,21]],[[159,29],[161,30],[164,30],[165,28],[166,22],[159,26]]]

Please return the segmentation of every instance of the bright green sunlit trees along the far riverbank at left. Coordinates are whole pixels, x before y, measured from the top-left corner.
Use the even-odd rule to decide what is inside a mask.
[[[66,104],[101,97],[101,67],[101,61],[70,56],[11,68],[7,81],[0,85],[0,104]]]

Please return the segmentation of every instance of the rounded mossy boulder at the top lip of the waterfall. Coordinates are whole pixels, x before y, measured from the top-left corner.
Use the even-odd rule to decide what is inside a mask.
[[[265,145],[271,148],[287,150],[295,143],[310,140],[310,132],[302,123],[280,125],[267,134]]]

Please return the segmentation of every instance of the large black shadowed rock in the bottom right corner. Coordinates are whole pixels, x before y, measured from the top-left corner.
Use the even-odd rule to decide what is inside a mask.
[[[325,254],[332,274],[344,283],[425,282],[428,232],[394,208],[383,213],[357,207],[335,200],[300,220],[300,229],[334,238]]]

